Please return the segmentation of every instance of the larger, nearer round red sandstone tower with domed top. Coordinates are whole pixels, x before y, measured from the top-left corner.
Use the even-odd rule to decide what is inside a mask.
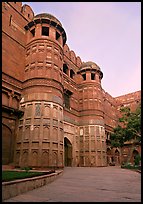
[[[63,46],[60,21],[42,13],[26,26],[25,80],[16,163],[63,167]]]

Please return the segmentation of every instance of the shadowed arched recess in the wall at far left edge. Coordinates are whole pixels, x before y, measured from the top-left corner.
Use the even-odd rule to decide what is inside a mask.
[[[2,124],[2,164],[7,165],[12,162],[12,132]]]

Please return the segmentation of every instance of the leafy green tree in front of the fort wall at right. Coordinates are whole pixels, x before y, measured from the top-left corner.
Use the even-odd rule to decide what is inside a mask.
[[[112,147],[122,147],[126,141],[136,139],[141,142],[141,105],[135,112],[130,108],[123,107],[120,109],[122,117],[119,118],[121,125],[114,128],[110,141]]]

